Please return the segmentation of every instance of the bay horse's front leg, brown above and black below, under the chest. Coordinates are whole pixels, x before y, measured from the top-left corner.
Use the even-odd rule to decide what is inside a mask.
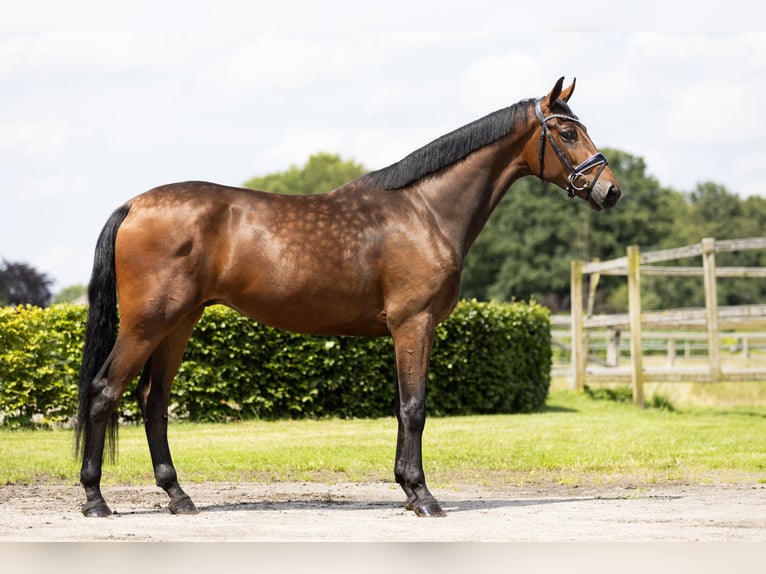
[[[392,329],[396,353],[398,436],[396,481],[407,495],[405,508],[418,516],[446,516],[426,486],[423,429],[426,424],[426,375],[433,344],[430,315],[420,315]]]

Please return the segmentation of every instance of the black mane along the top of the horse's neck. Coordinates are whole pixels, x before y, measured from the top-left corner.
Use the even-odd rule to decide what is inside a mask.
[[[466,124],[362,179],[384,189],[407,187],[508,135],[519,121],[526,123],[529,102],[523,100]]]

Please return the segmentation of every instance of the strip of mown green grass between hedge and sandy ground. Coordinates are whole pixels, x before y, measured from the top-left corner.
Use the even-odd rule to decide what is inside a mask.
[[[175,423],[182,482],[392,480],[393,418]],[[766,407],[636,409],[555,391],[544,412],[431,417],[424,466],[432,486],[766,482]],[[78,480],[71,431],[0,431],[0,484]],[[120,431],[107,484],[152,483],[143,429]]]

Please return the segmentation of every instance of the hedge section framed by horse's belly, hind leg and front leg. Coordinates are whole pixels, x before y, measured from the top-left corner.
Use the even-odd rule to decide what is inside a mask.
[[[176,379],[174,413],[199,421],[393,412],[388,339],[311,337],[210,307]]]

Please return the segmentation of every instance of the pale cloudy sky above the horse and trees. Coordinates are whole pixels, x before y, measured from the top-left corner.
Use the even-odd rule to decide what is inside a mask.
[[[0,0],[0,259],[86,283],[109,214],[152,187],[318,151],[378,169],[561,76],[596,145],[662,185],[766,196],[756,3],[624,5]]]

